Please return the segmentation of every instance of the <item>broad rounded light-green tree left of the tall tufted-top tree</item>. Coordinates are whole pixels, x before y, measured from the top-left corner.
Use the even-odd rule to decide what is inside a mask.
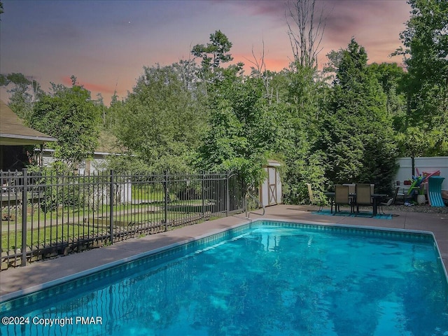
[[[123,104],[113,104],[113,132],[154,172],[188,172],[207,125],[190,83],[177,66],[144,67]]]

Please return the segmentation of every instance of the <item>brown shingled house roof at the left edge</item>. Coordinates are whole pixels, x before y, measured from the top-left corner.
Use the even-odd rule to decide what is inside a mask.
[[[25,126],[23,120],[0,100],[1,146],[36,145],[48,141],[57,141],[57,139]]]

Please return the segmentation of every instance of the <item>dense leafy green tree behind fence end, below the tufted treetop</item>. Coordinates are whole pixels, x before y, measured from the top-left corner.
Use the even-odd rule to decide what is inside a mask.
[[[244,81],[235,71],[223,75],[219,90],[209,96],[209,130],[198,148],[195,165],[214,172],[239,172],[247,186],[257,186],[270,138],[260,132],[262,83]]]

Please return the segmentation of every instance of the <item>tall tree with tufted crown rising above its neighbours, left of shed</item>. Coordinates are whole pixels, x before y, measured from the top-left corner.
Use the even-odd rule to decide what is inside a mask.
[[[244,78],[243,64],[222,63],[232,60],[232,43],[221,31],[210,35],[207,46],[195,45],[192,53],[202,57],[200,77],[206,83],[209,129],[197,150],[195,167],[212,171],[239,172],[248,186],[260,181],[266,161],[257,137],[261,84]],[[247,81],[245,81],[247,79]],[[260,140],[260,141],[259,141]]]

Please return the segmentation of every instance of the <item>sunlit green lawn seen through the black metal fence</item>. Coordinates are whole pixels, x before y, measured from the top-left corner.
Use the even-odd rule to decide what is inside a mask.
[[[165,221],[165,199],[162,188],[151,186],[132,186],[132,200],[134,203],[115,204],[113,207],[114,226],[117,231],[126,230],[130,223],[141,224],[163,223]],[[79,196],[79,195],[78,195]],[[185,218],[197,218],[202,211],[210,211],[210,205],[202,208],[202,200],[176,200],[170,195],[171,202],[167,207],[168,221],[181,221]],[[66,197],[62,200],[69,200]],[[75,197],[76,198],[76,197]],[[75,199],[73,198],[73,200]],[[68,241],[76,237],[101,235],[109,228],[111,206],[97,202],[96,207],[85,206],[83,197],[78,197],[76,206],[59,205],[51,211],[43,211],[45,202],[27,207],[27,246],[48,246],[57,241]],[[89,200],[89,199],[85,199]],[[86,201],[87,202],[87,201]],[[12,207],[15,204],[12,204]],[[42,206],[42,207],[41,207]],[[12,209],[12,207],[10,209]],[[22,211],[12,209],[3,210],[2,216],[10,221],[2,221],[1,248],[3,251],[22,247]],[[5,223],[7,223],[5,225]],[[9,228],[5,226],[9,225]],[[41,225],[41,228],[36,228]],[[18,230],[15,230],[17,228]]]

